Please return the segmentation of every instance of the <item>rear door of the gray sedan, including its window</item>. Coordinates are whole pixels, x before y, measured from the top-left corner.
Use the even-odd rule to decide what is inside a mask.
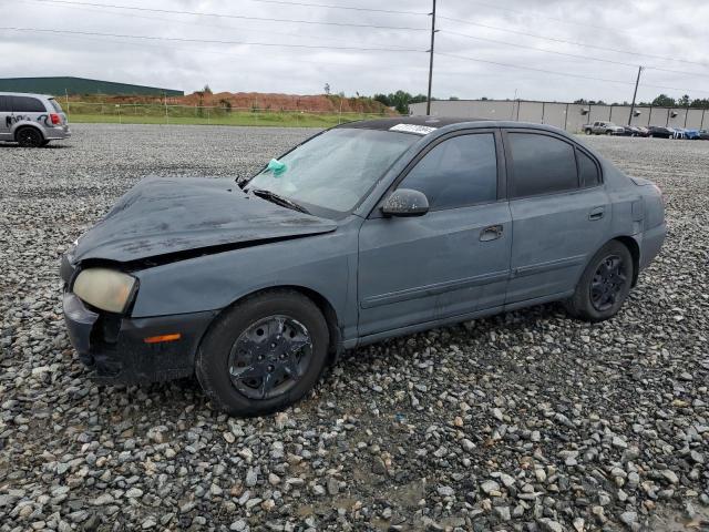
[[[554,133],[511,129],[504,139],[514,233],[506,303],[569,293],[610,227],[600,166]]]

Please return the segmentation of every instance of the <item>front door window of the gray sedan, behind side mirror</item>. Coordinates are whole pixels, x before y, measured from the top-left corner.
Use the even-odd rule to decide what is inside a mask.
[[[425,194],[432,209],[497,200],[497,155],[492,133],[459,135],[438,144],[409,172],[400,188]]]

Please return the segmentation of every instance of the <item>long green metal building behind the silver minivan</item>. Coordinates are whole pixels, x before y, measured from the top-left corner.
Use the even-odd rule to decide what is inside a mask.
[[[111,94],[111,95],[168,95],[183,96],[184,91],[157,86],[132,85],[86,78],[4,78],[0,91],[33,92],[39,94]]]

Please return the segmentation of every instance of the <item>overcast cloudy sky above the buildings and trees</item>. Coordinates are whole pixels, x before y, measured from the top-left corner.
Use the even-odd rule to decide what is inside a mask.
[[[332,92],[342,91],[348,95],[393,92],[397,89],[425,93],[430,17],[286,4],[292,2],[414,13],[428,13],[431,9],[430,0],[284,0],[284,3],[270,3],[270,0],[76,0],[76,3],[0,0],[0,27],[414,50],[279,48],[0,29],[0,78],[75,75],[186,92],[208,83],[214,92],[317,94],[322,92],[327,82]],[[109,9],[96,4],[413,29],[273,22]],[[709,2],[705,0],[439,0],[438,13],[441,17],[436,27],[441,31],[436,33],[436,52],[607,80],[556,75],[436,54],[433,94],[438,98],[512,99],[516,91],[518,98],[530,100],[573,101],[585,98],[623,102],[633,98],[638,64],[648,66],[643,73],[638,100],[651,100],[660,92],[675,98],[685,93],[692,99],[709,98]],[[593,44],[605,50],[559,41]],[[538,51],[542,49],[579,58]],[[678,72],[653,70],[650,66]]]

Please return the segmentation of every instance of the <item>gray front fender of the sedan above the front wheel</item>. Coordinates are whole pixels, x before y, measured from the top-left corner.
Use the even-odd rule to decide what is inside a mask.
[[[265,288],[296,286],[327,299],[345,326],[357,325],[357,232],[307,236],[178,260],[134,272],[132,317],[219,310]]]

